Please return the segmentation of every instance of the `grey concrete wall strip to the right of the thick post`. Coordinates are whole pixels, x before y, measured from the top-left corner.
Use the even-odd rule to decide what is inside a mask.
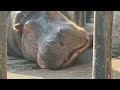
[[[120,56],[120,11],[113,12],[112,31],[112,52],[113,56]]]

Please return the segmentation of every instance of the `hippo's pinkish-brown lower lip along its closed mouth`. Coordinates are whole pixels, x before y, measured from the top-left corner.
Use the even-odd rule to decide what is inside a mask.
[[[90,45],[90,41],[88,40],[82,47],[74,50],[62,63],[60,68],[66,68],[72,64],[72,62],[83,53]]]

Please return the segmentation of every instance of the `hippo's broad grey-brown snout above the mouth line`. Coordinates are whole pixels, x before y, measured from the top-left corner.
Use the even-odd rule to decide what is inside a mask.
[[[46,41],[39,50],[40,57],[49,69],[68,67],[75,60],[75,57],[79,56],[76,55],[73,58],[72,55],[74,55],[78,49],[82,50],[83,47],[86,47],[89,41],[88,38],[89,35],[87,35],[85,31],[59,28],[56,30],[56,33],[46,37]],[[84,51],[84,49],[82,51]],[[71,60],[71,57],[73,60]]]

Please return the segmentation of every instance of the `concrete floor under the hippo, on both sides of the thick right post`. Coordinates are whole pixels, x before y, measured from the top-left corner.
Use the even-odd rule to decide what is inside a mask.
[[[66,69],[49,70],[40,69],[36,63],[30,62],[26,59],[8,57],[7,63],[7,78],[8,79],[91,79],[92,77],[92,50],[85,52],[80,61]],[[86,56],[88,55],[88,56]],[[86,59],[84,58],[86,57]],[[84,60],[83,60],[84,59]],[[83,61],[82,61],[83,60]],[[120,59],[112,59],[112,72],[114,79],[120,79]]]

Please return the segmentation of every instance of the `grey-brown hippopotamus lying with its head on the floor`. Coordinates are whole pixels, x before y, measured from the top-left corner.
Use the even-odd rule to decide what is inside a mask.
[[[52,70],[71,66],[91,44],[89,34],[60,11],[10,12],[7,42],[8,55]]]

